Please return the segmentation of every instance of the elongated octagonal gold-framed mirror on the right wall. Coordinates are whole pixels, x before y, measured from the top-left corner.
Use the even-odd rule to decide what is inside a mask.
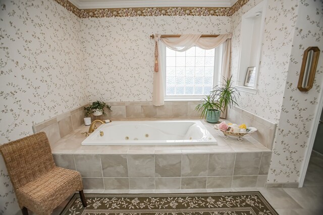
[[[313,87],[318,56],[319,48],[316,46],[310,46],[304,51],[297,85],[298,90],[306,92]]]

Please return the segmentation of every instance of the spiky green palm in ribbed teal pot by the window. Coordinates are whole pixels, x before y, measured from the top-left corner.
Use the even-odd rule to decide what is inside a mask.
[[[220,119],[221,111],[238,105],[237,96],[240,96],[240,93],[237,88],[232,87],[232,76],[224,78],[224,81],[213,89],[209,95],[205,95],[195,110],[201,111],[201,118],[205,118],[207,122],[216,123]]]

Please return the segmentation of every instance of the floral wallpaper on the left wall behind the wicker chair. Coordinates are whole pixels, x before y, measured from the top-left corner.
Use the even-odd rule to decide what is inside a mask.
[[[80,21],[54,1],[0,1],[0,144],[87,102]],[[0,214],[18,210],[0,156]]]

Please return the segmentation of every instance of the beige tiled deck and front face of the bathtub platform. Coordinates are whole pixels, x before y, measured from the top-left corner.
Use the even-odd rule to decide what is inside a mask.
[[[272,152],[245,136],[215,146],[82,146],[81,126],[50,144],[58,166],[81,172],[85,189],[176,190],[264,187]]]

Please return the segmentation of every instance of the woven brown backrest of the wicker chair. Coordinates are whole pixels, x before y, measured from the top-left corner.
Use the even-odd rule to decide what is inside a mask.
[[[45,132],[8,142],[0,152],[15,190],[56,166]]]

